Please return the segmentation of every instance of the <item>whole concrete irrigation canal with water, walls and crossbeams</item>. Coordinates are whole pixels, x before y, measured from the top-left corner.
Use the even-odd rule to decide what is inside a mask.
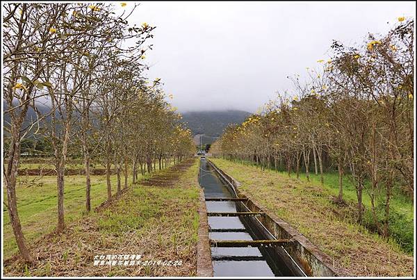
[[[206,250],[211,254],[211,265],[206,265],[211,271],[202,276],[338,275],[328,256],[241,195],[239,183],[205,157],[200,159],[199,185],[204,190],[208,221],[210,249]]]

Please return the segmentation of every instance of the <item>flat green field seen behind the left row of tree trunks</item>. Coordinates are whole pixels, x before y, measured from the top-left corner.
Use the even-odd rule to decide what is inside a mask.
[[[41,163],[30,163],[38,168]],[[68,168],[78,166],[72,163]],[[26,168],[29,168],[27,165]],[[42,165],[43,166],[43,165]],[[32,167],[31,167],[32,168]],[[82,165],[81,165],[82,168]],[[158,168],[158,167],[157,167]],[[161,170],[163,171],[163,170]],[[157,170],[156,173],[159,171]],[[139,172],[140,173],[140,172]],[[129,174],[130,175],[130,174]],[[145,174],[145,177],[149,176]],[[139,174],[139,179],[141,175]],[[129,185],[131,176],[129,176]],[[122,188],[124,177],[122,176]],[[117,178],[111,176],[112,193],[117,192]],[[19,176],[16,188],[17,209],[22,229],[27,242],[33,242],[40,236],[53,231],[57,223],[57,189],[56,176]],[[3,197],[7,203],[6,188]],[[65,176],[65,222],[72,222],[83,216],[85,211],[85,177],[82,175]],[[105,175],[91,176],[91,207],[94,209],[107,199]],[[7,213],[3,208],[3,256],[8,258],[18,253],[13,229]]]

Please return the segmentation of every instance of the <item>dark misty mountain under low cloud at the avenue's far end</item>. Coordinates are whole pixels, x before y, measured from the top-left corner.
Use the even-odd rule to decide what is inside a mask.
[[[229,124],[241,124],[251,113],[243,110],[207,110],[182,113],[182,122],[193,135],[218,138]]]

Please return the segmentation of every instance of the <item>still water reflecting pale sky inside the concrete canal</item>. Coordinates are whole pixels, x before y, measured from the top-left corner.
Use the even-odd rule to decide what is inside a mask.
[[[205,158],[200,160],[199,184],[206,198],[236,197]],[[240,205],[238,205],[240,204]],[[240,212],[240,201],[206,201],[207,212]],[[252,220],[243,217],[208,217],[209,237],[213,240],[268,239],[256,231]],[[295,276],[273,249],[257,247],[211,247],[213,273],[217,277]]]

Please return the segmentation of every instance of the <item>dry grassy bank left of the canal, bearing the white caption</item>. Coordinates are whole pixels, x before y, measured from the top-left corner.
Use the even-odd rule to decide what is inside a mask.
[[[182,169],[181,169],[182,168]],[[197,161],[186,160],[152,179],[170,186],[138,183],[98,213],[70,222],[65,233],[32,243],[38,264],[6,263],[8,276],[194,276],[198,198]],[[95,255],[142,254],[142,261],[181,265],[94,266]]]

